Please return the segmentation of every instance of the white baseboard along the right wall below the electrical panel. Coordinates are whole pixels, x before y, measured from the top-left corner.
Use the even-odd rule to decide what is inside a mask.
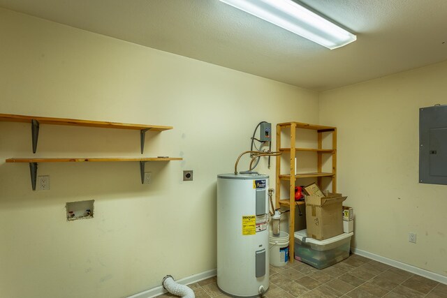
[[[442,276],[441,274],[427,271],[425,269],[420,269],[418,267],[414,267],[414,266],[411,266],[411,265],[408,265],[408,264],[405,264],[405,263],[402,263],[402,262],[399,262],[396,260],[391,260],[391,259],[382,257],[381,255],[376,255],[374,253],[362,251],[361,249],[358,249],[358,248],[351,247],[351,251],[353,253],[355,253],[356,255],[361,255],[362,257],[376,260],[377,262],[381,262],[386,265],[390,265],[390,266],[393,266],[393,267],[396,267],[396,268],[399,268],[399,269],[402,269],[405,271],[409,271],[413,274],[417,274],[417,275],[432,279],[433,281],[437,281],[439,283],[444,283],[447,285],[447,276]]]

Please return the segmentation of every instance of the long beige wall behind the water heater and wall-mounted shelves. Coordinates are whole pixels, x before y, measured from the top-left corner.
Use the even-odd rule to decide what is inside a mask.
[[[170,125],[147,133],[145,156],[184,158],[147,163],[149,185],[138,163],[41,163],[50,191],[31,191],[28,165],[4,163],[33,156],[29,124],[1,122],[0,297],[124,297],[214,269],[216,175],[259,121],[318,122],[315,92],[9,10],[0,40],[0,113]],[[139,146],[137,131],[42,125],[35,156]],[[95,200],[95,217],[67,222],[79,200]]]

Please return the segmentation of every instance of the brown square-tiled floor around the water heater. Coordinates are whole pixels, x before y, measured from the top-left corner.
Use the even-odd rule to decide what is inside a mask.
[[[215,277],[189,287],[194,290],[196,298],[228,297],[217,288]],[[177,296],[159,296],[162,297]],[[298,261],[284,267],[270,266],[270,288],[263,297],[447,298],[447,285],[360,255],[351,255],[322,270]]]

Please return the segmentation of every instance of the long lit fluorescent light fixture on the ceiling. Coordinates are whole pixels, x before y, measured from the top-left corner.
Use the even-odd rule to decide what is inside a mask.
[[[357,36],[291,0],[220,0],[267,22],[312,40],[330,50],[352,43]]]

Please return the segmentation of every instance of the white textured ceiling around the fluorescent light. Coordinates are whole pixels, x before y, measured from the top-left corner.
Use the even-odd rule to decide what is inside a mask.
[[[0,7],[323,91],[447,60],[447,0],[302,0],[357,34],[328,50],[218,0],[0,0]]]

